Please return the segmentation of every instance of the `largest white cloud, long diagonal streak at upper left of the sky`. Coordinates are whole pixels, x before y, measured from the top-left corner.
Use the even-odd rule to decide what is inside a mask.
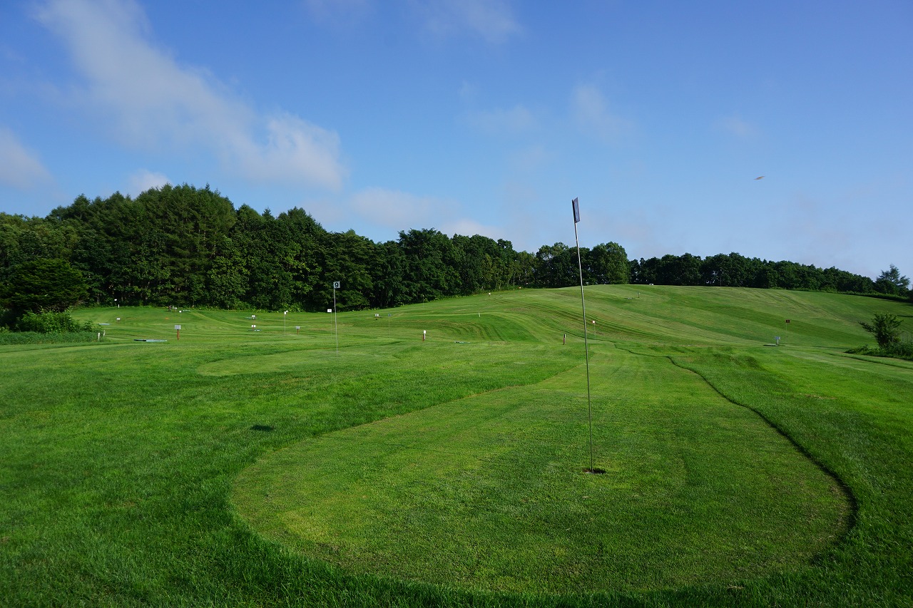
[[[252,179],[341,188],[347,172],[334,132],[287,113],[259,114],[205,69],[180,64],[148,40],[131,0],[51,0],[37,16],[85,78],[85,107],[101,110],[121,142],[203,150]]]

